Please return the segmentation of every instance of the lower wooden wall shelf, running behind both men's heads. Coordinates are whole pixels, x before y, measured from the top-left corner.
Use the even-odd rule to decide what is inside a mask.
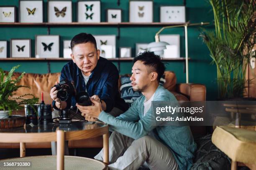
[[[0,61],[65,61],[65,60],[71,60],[71,58],[0,58]],[[132,61],[133,58],[108,58],[110,61]],[[163,58],[164,61],[185,61],[186,59],[184,57],[180,58]],[[190,60],[190,58],[189,58]]]

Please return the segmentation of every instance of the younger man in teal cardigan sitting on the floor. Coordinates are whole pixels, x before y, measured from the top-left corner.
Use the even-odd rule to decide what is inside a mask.
[[[196,144],[188,126],[154,126],[151,101],[177,102],[174,95],[159,85],[164,64],[153,52],[134,58],[131,84],[142,92],[133,105],[118,117],[102,111],[100,102],[83,107],[82,115],[96,117],[109,125],[110,170],[136,170],[146,162],[151,170],[189,170]],[[85,114],[84,114],[85,113]],[[102,160],[102,151],[95,159]]]

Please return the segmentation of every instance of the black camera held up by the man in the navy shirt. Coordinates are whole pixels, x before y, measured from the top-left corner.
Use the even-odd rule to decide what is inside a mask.
[[[57,97],[61,101],[66,101],[73,95],[75,95],[74,85],[72,84],[72,82],[66,79],[61,80],[59,84],[54,85],[54,87],[56,87],[56,90],[58,90]]]

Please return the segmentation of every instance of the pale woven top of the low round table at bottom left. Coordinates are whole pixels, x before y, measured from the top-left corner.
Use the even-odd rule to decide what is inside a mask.
[[[16,165],[14,165],[14,163],[16,163]],[[28,166],[29,163],[30,166]],[[107,166],[98,160],[90,158],[65,156],[64,169],[106,170]],[[0,160],[0,170],[56,170],[56,156],[29,156]]]

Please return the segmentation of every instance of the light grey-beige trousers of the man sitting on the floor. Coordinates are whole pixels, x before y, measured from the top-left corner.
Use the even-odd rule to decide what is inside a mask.
[[[103,150],[94,158],[103,160]],[[172,152],[151,136],[137,140],[118,132],[113,132],[109,140],[110,170],[137,170],[146,165],[151,170],[178,170],[178,164]]]

